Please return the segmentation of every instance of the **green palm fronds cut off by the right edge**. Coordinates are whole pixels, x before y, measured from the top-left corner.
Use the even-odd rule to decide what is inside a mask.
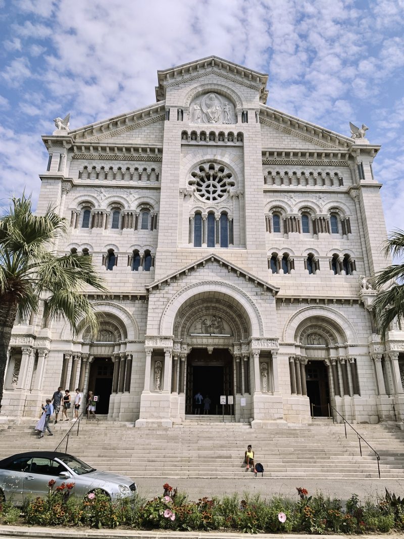
[[[384,254],[402,259],[404,256],[404,231],[395,230],[386,240]],[[373,300],[373,312],[379,334],[384,342],[390,324],[395,318],[404,319],[404,264],[387,266],[376,275],[378,295]],[[385,285],[386,289],[382,289]]]

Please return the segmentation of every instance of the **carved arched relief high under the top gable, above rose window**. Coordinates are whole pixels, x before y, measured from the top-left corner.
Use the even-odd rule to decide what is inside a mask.
[[[210,92],[194,99],[190,106],[191,123],[235,123],[234,105],[222,95]]]

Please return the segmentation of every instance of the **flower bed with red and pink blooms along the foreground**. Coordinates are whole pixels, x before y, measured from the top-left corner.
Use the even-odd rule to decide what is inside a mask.
[[[279,496],[263,499],[259,494],[237,494],[190,501],[168,483],[162,496],[141,496],[110,501],[95,490],[83,499],[74,496],[74,483],[54,489],[48,483],[47,497],[29,500],[22,512],[10,503],[0,505],[0,523],[39,526],[87,526],[166,530],[223,530],[245,533],[346,533],[363,534],[404,530],[404,500],[387,492],[382,499],[361,503],[356,494],[342,507],[340,500],[321,493],[309,496],[297,488],[297,500]]]

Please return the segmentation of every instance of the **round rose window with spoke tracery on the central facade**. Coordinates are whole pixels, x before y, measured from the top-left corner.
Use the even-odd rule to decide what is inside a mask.
[[[207,202],[220,201],[226,196],[229,186],[234,185],[231,172],[226,172],[222,165],[216,167],[214,163],[200,165],[191,176],[193,179],[189,184],[194,185],[196,195]]]

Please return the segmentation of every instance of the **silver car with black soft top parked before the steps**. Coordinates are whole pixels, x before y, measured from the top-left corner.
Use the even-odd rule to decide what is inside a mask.
[[[124,475],[100,472],[66,453],[30,451],[0,460],[0,501],[21,505],[28,497],[45,496],[48,482],[74,483],[72,494],[85,496],[95,489],[103,490],[110,499],[131,496],[136,483]]]

